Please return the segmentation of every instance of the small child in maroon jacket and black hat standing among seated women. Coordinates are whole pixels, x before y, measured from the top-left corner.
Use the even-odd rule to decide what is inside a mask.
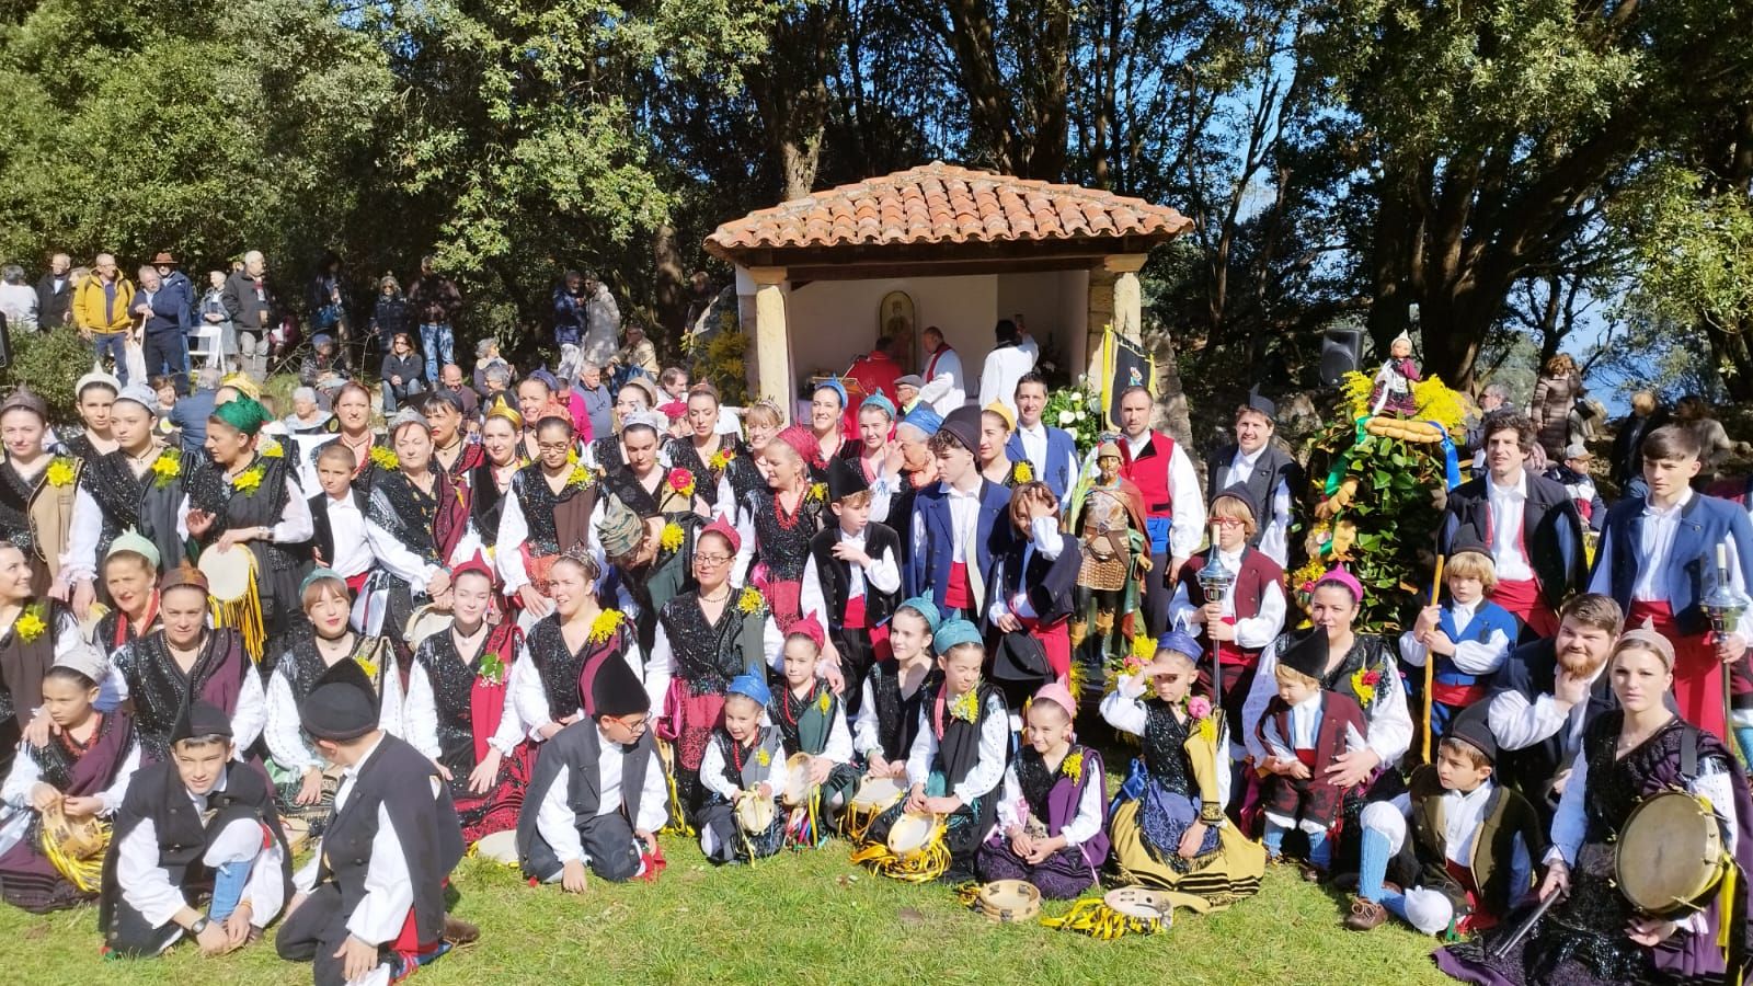
[[[1320,686],[1327,670],[1327,635],[1315,628],[1278,653],[1278,695],[1257,726],[1267,749],[1260,770],[1266,805],[1266,853],[1278,860],[1285,833],[1308,835],[1308,861],[1320,872],[1332,861],[1327,835],[1339,821],[1345,791],[1327,781],[1327,767],[1366,746],[1364,711],[1350,695]]]

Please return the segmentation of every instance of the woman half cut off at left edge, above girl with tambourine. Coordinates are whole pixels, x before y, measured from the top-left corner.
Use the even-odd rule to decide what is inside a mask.
[[[44,746],[49,718],[39,709],[42,675],[54,654],[84,646],[79,621],[61,604],[30,591],[25,551],[0,540],[0,772],[12,765],[19,737]]]

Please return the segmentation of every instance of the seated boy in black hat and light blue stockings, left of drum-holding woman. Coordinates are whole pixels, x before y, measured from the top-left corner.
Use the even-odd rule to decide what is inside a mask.
[[[1413,770],[1406,793],[1364,807],[1346,928],[1367,932],[1394,914],[1427,935],[1467,935],[1497,925],[1529,891],[1546,832],[1527,798],[1494,782],[1487,709],[1450,721],[1436,763]],[[1388,886],[1390,875],[1406,890]]]

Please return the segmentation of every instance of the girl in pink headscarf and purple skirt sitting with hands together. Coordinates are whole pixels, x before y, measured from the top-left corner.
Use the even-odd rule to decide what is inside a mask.
[[[1076,742],[1078,704],[1064,684],[1034,693],[1024,709],[1024,747],[1004,770],[997,830],[980,846],[980,879],[1022,879],[1050,900],[1071,900],[1108,860],[1103,760]]]

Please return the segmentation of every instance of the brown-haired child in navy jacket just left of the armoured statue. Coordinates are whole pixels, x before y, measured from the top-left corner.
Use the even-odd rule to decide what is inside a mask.
[[[1045,668],[1020,668],[1010,644],[997,644],[992,677],[1003,679],[1004,702],[1020,709],[1029,693],[1018,695],[1018,686],[1057,681],[1071,688],[1071,598],[1083,558],[1078,540],[1061,530],[1059,498],[1045,482],[1011,491],[1010,525],[1010,546],[992,561],[987,621],[1004,635],[1027,633],[1047,656]]]

